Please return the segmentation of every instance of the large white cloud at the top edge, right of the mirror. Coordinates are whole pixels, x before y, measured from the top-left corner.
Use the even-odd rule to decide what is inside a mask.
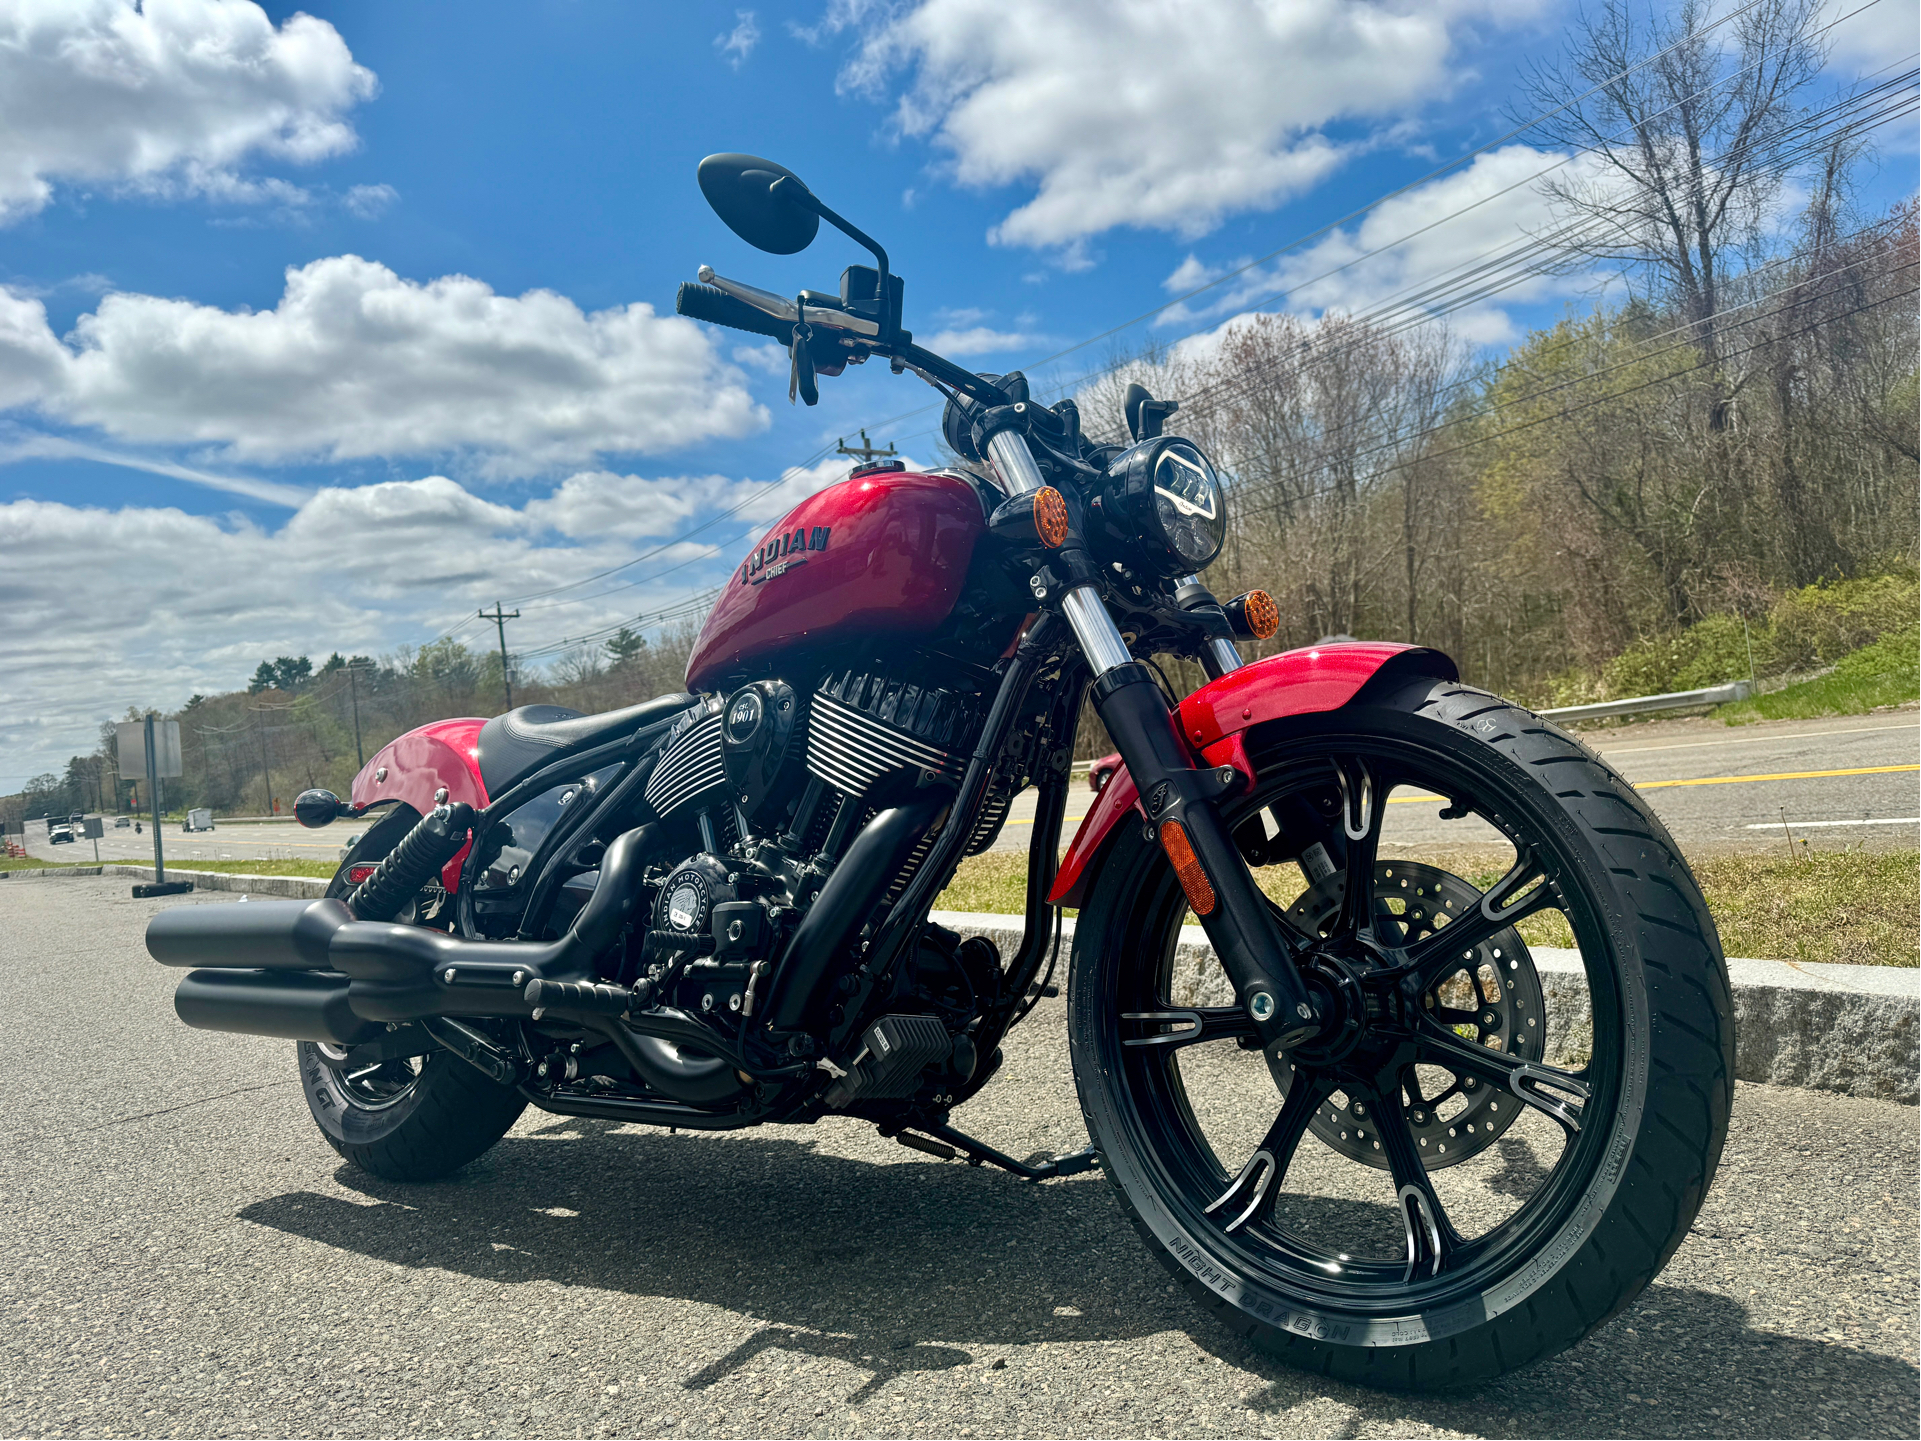
[[[1333,171],[1374,123],[1445,96],[1454,29],[1525,0],[836,0],[807,38],[857,29],[841,86],[880,94],[968,186],[1035,186],[991,232],[1074,246],[1116,225],[1199,236]],[[1070,250],[1070,259],[1085,256]]]

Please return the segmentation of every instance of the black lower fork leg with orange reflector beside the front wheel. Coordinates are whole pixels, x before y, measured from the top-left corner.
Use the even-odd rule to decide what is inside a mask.
[[[1308,1039],[1320,1030],[1314,997],[1220,817],[1218,801],[1241,784],[1241,774],[1193,767],[1160,686],[1139,661],[1101,674],[1093,707],[1262,1045],[1287,1049]]]

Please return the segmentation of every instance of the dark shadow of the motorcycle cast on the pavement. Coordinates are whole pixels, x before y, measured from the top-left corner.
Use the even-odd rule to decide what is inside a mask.
[[[336,1180],[365,1203],[290,1191],[238,1216],[409,1270],[761,1320],[682,1380],[693,1391],[778,1349],[866,1372],[845,1397],[861,1404],[895,1378],[984,1360],[968,1347],[1183,1331],[1262,1378],[1241,1404],[1268,1414],[1331,1397],[1362,1416],[1477,1433],[1812,1435],[1831,1431],[1836,1410],[1886,1399],[1888,1433],[1913,1433],[1915,1366],[1756,1330],[1710,1291],[1656,1283],[1573,1351],[1473,1391],[1362,1391],[1281,1366],[1206,1320],[1149,1258],[1099,1174],[1032,1185],[949,1160],[893,1160],[878,1141],[889,1164],[834,1155],[811,1136],[620,1130],[557,1120],[426,1185],[342,1166]],[[609,1333],[620,1320],[615,1299]]]

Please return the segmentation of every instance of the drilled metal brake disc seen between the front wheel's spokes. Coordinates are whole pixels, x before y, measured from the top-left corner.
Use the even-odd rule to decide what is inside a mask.
[[[1341,915],[1347,878],[1333,872],[1287,907],[1287,918],[1308,936]],[[1420,861],[1377,861],[1374,867],[1374,924],[1391,945],[1412,945],[1471,915],[1481,891],[1460,876]],[[1546,1051],[1546,1005],[1527,945],[1508,926],[1473,949],[1441,978],[1422,1003],[1456,1036],[1523,1061]],[[1268,1055],[1276,1086],[1287,1095],[1293,1066]],[[1521,1112],[1521,1103],[1479,1076],[1422,1062],[1402,1076],[1402,1109],[1427,1170],[1458,1166],[1491,1147]],[[1308,1122],[1322,1141],[1349,1160],[1387,1170],[1375,1118],[1360,1097],[1335,1091]]]

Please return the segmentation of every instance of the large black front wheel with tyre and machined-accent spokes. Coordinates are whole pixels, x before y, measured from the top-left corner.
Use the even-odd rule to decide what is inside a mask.
[[[1076,930],[1105,1170],[1220,1320],[1362,1385],[1573,1345],[1681,1245],[1733,1101],[1714,920],[1635,792],[1460,684],[1274,722],[1228,822],[1327,1022],[1270,1055],[1128,826]],[[1656,1045],[1658,1038],[1658,1045]]]

